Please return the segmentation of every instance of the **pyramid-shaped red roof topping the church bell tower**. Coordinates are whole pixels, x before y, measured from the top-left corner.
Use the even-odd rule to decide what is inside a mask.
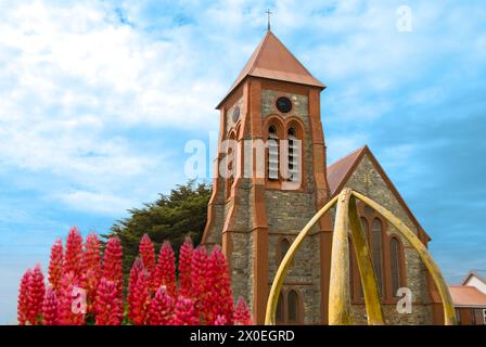
[[[226,98],[228,98],[246,76],[325,88],[270,30],[267,31],[264,39],[257,46],[245,67],[243,67],[217,108],[219,108]]]

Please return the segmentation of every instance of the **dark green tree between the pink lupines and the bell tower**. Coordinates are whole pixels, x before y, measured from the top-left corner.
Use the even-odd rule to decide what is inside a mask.
[[[129,209],[130,216],[118,220],[112,232],[104,237],[117,235],[124,249],[124,273],[128,274],[138,253],[140,239],[149,234],[158,254],[164,241],[170,241],[176,253],[186,236],[197,245],[206,224],[207,203],[212,193],[210,184],[195,183],[177,185],[169,195],[161,197],[143,208]],[[178,256],[176,254],[176,256]]]

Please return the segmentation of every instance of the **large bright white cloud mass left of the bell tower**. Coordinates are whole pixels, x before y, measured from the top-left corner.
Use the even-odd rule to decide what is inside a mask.
[[[205,79],[194,37],[166,35],[123,25],[101,2],[2,3],[0,163],[18,172],[11,183],[119,214],[186,180],[175,149],[146,151],[130,129],[216,128],[226,86]]]

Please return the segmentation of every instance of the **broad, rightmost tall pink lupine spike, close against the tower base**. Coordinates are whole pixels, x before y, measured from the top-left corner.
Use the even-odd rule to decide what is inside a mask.
[[[207,307],[207,323],[212,324],[218,316],[227,318],[233,324],[233,294],[231,291],[228,264],[219,246],[215,246],[207,265],[208,295],[203,303]]]

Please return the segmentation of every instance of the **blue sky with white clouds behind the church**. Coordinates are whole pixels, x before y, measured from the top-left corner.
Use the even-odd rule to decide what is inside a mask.
[[[486,269],[484,1],[0,0],[0,323],[71,226],[103,233],[186,182],[267,8],[328,86],[330,163],[368,143],[446,278]]]

